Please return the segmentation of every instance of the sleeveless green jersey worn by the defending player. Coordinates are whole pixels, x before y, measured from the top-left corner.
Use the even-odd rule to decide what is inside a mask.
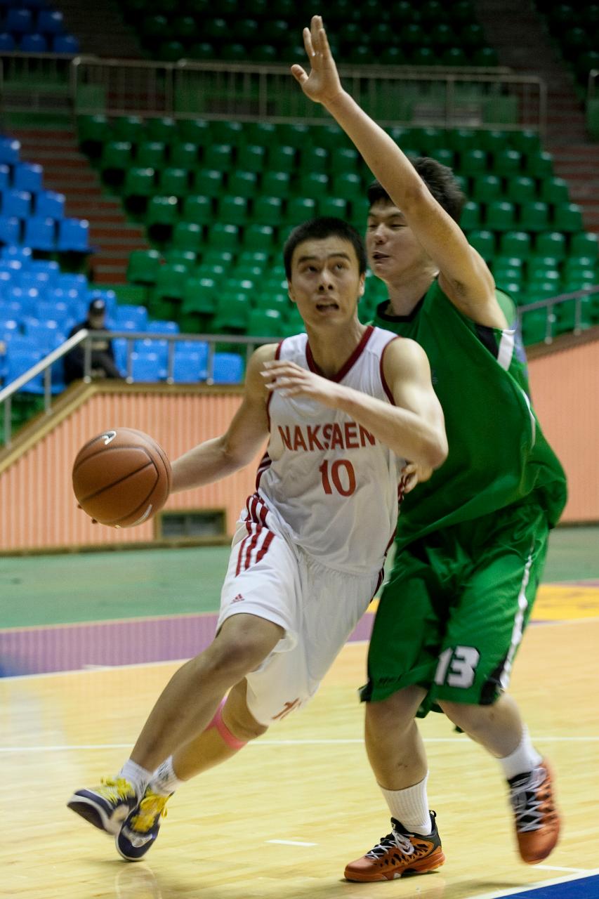
[[[497,290],[509,323],[512,300]],[[398,545],[513,503],[536,503],[552,527],[566,503],[566,476],[532,410],[526,360],[514,330],[477,325],[435,280],[409,316],[381,303],[374,325],[425,350],[445,414],[449,455],[429,481],[407,494]]]

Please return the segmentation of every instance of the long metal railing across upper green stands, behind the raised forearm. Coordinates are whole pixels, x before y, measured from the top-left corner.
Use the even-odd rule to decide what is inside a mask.
[[[381,125],[545,130],[547,86],[505,68],[340,66],[354,99]],[[76,115],[329,120],[282,65],[101,59],[71,65]]]

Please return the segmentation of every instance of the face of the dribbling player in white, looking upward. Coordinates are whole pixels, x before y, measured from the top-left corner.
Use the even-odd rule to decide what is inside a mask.
[[[353,318],[363,292],[364,276],[349,241],[331,235],[296,246],[289,295],[307,325],[339,324]]]

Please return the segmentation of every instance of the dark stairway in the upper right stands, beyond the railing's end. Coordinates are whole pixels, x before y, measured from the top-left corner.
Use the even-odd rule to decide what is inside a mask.
[[[555,174],[568,181],[570,200],[583,209],[585,227],[599,233],[599,146],[586,134],[585,112],[567,63],[553,44],[531,0],[476,0],[478,22],[499,63],[522,75],[538,75],[548,86],[547,134],[543,146]]]

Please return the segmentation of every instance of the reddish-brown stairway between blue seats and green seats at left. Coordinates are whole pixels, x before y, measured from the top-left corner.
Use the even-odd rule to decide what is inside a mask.
[[[90,244],[97,252],[89,257],[90,278],[98,284],[126,282],[132,250],[148,248],[144,230],[125,218],[118,197],[104,191],[99,175],[79,152],[75,129],[11,128],[21,141],[21,158],[44,169],[44,187],[64,193],[66,215],[86,218]]]

